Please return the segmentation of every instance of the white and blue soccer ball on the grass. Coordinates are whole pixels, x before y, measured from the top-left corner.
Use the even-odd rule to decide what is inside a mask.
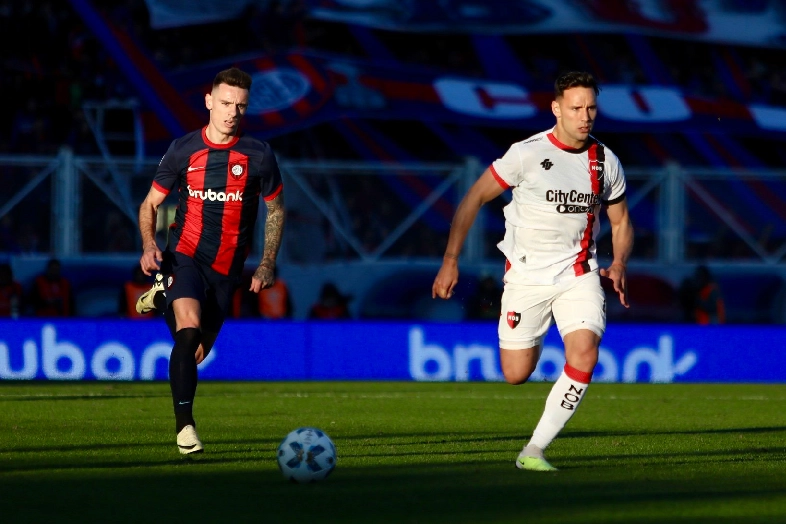
[[[317,428],[298,428],[278,445],[278,468],[292,482],[317,482],[335,467],[336,446]]]

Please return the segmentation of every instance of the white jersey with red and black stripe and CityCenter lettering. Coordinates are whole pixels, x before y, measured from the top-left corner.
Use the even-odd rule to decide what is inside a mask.
[[[536,284],[596,271],[601,203],[625,197],[614,153],[592,136],[584,148],[571,148],[552,131],[516,142],[490,167],[502,187],[513,188],[497,247],[518,276]]]

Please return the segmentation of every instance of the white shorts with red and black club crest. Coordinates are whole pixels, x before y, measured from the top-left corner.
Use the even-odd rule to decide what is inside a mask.
[[[525,283],[513,269],[505,273],[499,347],[527,349],[540,346],[556,322],[565,337],[589,329],[603,337],[606,331],[606,295],[596,271],[552,285]]]

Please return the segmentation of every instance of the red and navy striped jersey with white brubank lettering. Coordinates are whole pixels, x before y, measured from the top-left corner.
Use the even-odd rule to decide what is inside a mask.
[[[153,187],[168,195],[179,186],[169,249],[222,275],[239,275],[251,250],[259,198],[272,200],[281,192],[281,172],[267,142],[242,135],[214,144],[206,129],[172,142]]]

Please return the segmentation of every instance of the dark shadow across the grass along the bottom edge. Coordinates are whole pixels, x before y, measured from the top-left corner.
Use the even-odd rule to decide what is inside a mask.
[[[739,471],[646,479],[628,468],[544,474],[516,470],[512,462],[339,464],[323,482],[295,485],[269,468],[208,467],[239,461],[189,462],[198,467],[0,476],[0,510],[4,522],[80,523],[709,523],[786,516],[786,480],[763,485]],[[718,509],[730,504],[737,520]]]

